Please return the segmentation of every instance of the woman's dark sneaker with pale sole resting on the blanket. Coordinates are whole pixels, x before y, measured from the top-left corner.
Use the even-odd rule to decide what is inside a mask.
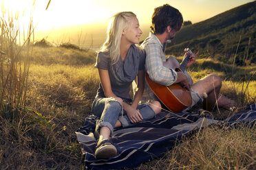
[[[99,141],[96,145],[95,158],[107,159],[114,157],[117,154],[116,147],[110,143],[109,139]]]

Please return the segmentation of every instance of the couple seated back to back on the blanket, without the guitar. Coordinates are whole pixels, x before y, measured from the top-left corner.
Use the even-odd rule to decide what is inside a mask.
[[[126,127],[152,119],[162,107],[145,83],[145,71],[154,82],[169,86],[182,83],[191,90],[193,104],[204,101],[204,108],[211,110],[215,104],[224,108],[235,106],[235,102],[220,94],[222,81],[217,75],[209,75],[192,84],[186,74],[176,72],[173,67],[180,64],[175,58],[164,56],[166,42],[171,40],[182,27],[180,12],[170,5],[156,8],[152,16],[149,37],[136,47],[142,31],[133,12],[119,12],[112,16],[107,29],[107,40],[98,53],[95,67],[98,68],[100,86],[92,104],[92,114],[100,117],[96,122],[95,136],[98,139],[96,158],[116,156],[117,149],[109,136],[115,127]],[[195,62],[191,54],[190,66]],[[129,96],[131,83],[138,76],[134,99]],[[145,88],[145,92],[144,92]],[[143,95],[143,92],[145,95]],[[144,96],[147,103],[139,104]]]

